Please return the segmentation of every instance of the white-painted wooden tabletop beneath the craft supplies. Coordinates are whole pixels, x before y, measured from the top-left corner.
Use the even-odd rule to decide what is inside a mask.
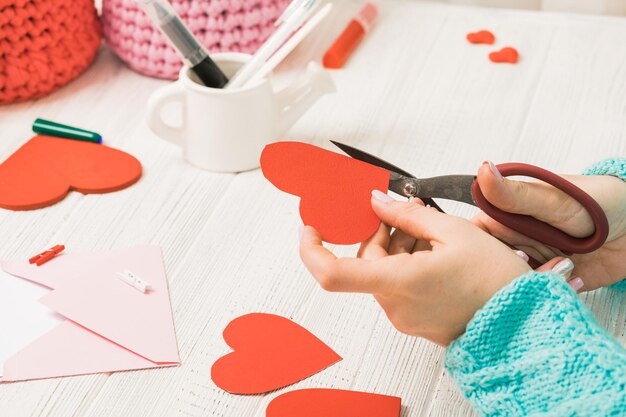
[[[339,6],[285,71],[320,59],[357,4]],[[484,159],[575,173],[626,154],[626,20],[409,1],[380,6],[379,24],[334,73],[339,92],[322,99],[289,138],[328,147],[328,139],[337,139],[416,175],[471,173]],[[482,28],[494,31],[497,47],[517,47],[520,63],[491,64],[494,48],[465,41]],[[295,197],[259,170],[195,169],[147,130],[146,100],[165,83],[130,71],[104,49],[84,75],[52,96],[0,108],[3,159],[43,117],[101,132],[108,145],[144,166],[141,181],[121,192],[72,193],[31,212],[0,210],[0,257],[31,255],[58,242],[71,251],[160,245],[182,366],[1,385],[0,415],[260,417],[278,393],[301,387],[397,395],[403,416],[475,415],[442,369],[443,349],[394,331],[369,296],[317,287],[298,258]],[[608,290],[584,297],[624,343],[624,299]],[[269,395],[223,392],[210,379],[212,363],[228,351],[221,331],[256,311],[293,318],[344,360]]]

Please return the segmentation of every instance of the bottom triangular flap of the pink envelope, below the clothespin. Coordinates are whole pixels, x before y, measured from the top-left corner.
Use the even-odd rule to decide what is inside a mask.
[[[160,366],[66,321],[5,362],[0,382]]]

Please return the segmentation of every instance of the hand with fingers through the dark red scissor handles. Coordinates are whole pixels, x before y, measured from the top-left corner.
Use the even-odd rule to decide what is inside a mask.
[[[565,176],[600,204],[609,221],[609,237],[600,249],[572,256],[573,274],[582,277],[583,291],[609,286],[626,278],[626,183],[611,176]],[[494,206],[533,216],[576,237],[594,232],[587,211],[563,191],[546,183],[502,178],[495,165],[485,162],[478,171],[480,188]],[[562,255],[480,213],[473,223],[540,262]]]

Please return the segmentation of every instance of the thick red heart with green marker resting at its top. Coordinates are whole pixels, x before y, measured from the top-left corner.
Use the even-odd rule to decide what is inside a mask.
[[[83,194],[121,190],[141,177],[125,152],[95,143],[35,136],[0,165],[0,207],[32,210]]]

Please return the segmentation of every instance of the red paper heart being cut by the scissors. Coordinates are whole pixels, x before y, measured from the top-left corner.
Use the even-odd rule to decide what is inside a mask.
[[[261,169],[277,188],[300,196],[302,221],[324,241],[350,245],[378,229],[371,193],[387,191],[387,170],[301,142],[267,145]]]

